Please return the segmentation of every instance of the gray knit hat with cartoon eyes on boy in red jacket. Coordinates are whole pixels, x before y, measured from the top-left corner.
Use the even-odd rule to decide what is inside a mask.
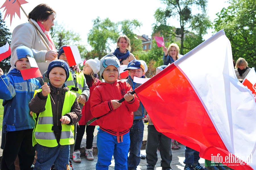
[[[100,76],[103,78],[102,73],[109,65],[113,65],[117,68],[118,76],[120,73],[120,62],[113,54],[107,54],[100,59]]]

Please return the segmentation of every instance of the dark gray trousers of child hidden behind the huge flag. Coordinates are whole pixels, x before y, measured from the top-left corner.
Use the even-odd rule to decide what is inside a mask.
[[[158,132],[154,125],[148,125],[148,139],[146,144],[147,167],[154,168],[157,158],[157,147],[159,144],[161,167],[170,168],[172,162],[172,139]]]

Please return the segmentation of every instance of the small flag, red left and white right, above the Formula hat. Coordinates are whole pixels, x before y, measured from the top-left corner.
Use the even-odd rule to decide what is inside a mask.
[[[80,56],[80,52],[77,46],[66,46],[63,47],[67,60],[69,62],[69,66],[77,65],[82,63],[82,59]]]

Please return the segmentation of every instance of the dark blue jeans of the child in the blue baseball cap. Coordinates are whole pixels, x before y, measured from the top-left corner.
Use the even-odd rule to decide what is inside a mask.
[[[141,144],[143,140],[144,123],[143,120],[133,120],[130,128],[130,154],[127,159],[128,169],[136,169],[141,161]]]

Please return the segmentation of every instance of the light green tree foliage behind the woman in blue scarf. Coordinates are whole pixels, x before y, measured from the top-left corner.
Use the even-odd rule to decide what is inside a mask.
[[[91,58],[99,59],[110,53],[116,46],[119,35],[126,35],[131,41],[131,52],[142,50],[142,42],[134,31],[141,26],[138,20],[123,20],[114,23],[109,18],[93,20],[93,27],[88,33],[88,43],[92,46],[89,52]]]

